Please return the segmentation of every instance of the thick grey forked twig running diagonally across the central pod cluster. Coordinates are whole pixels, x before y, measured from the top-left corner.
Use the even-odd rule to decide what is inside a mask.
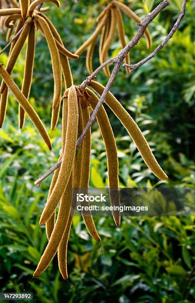
[[[186,3],[187,0],[184,0],[183,3]],[[101,64],[89,77],[87,77],[87,79],[85,81],[83,81],[83,83],[80,85],[81,89],[85,89],[90,82],[94,79],[94,77],[97,75],[97,73],[103,69],[104,66],[106,66],[107,64],[110,63],[114,63],[114,68],[113,71],[111,73],[111,76],[105,86],[105,89],[96,105],[96,108],[94,109],[85,129],[83,130],[83,133],[81,134],[81,136],[79,137],[78,141],[77,141],[77,149],[80,147],[83,138],[85,137],[88,129],[91,127],[91,125],[94,123],[96,116],[98,114],[98,111],[102,105],[102,103],[105,101],[107,93],[110,90],[110,87],[112,85],[112,83],[114,82],[114,79],[118,73],[118,70],[122,64],[123,59],[126,57],[126,55],[128,54],[128,52],[133,49],[135,47],[135,45],[138,44],[139,40],[141,39],[141,37],[144,35],[145,30],[147,25],[159,14],[159,12],[161,12],[167,5],[169,4],[168,0],[163,0],[162,2],[160,2],[158,4],[158,6],[156,6],[156,8],[149,13],[146,18],[139,24],[139,31],[137,32],[137,34],[135,35],[135,37],[127,44],[127,46],[121,50],[118,55],[112,59],[109,59],[107,61],[105,61],[103,64]],[[184,5],[184,4],[183,4]],[[183,7],[183,6],[182,6]],[[42,181],[44,179],[46,179],[56,168],[58,168],[61,165],[61,160],[59,162],[57,162],[55,165],[53,165],[43,176],[41,176],[36,182],[35,185],[39,186]]]

